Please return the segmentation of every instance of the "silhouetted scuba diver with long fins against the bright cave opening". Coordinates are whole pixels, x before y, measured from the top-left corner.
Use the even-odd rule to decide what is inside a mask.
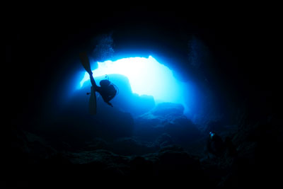
[[[100,81],[100,86],[96,84],[96,81],[93,78],[93,71],[91,71],[91,64],[88,59],[88,55],[86,52],[81,52],[79,54],[81,59],[81,64],[83,65],[86,72],[88,72],[89,77],[91,79],[91,98],[89,100],[89,110],[92,115],[96,114],[96,92],[100,94],[103,98],[103,101],[113,107],[110,101],[112,98],[116,96],[117,93],[117,86],[110,83],[108,79],[103,79]],[[89,94],[89,93],[87,93]]]

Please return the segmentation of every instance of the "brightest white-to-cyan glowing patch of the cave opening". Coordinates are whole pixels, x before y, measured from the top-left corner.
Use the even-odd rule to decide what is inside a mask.
[[[115,62],[98,62],[98,69],[93,70],[93,76],[105,74],[127,76],[133,93],[154,96],[160,102],[184,104],[185,83],[177,81],[171,69],[157,62],[154,57],[129,57]],[[88,80],[86,73],[81,80],[81,87]]]

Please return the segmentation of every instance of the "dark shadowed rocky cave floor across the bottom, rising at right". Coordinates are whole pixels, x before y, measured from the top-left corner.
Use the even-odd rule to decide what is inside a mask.
[[[247,122],[253,126],[247,127]],[[93,186],[115,179],[129,182],[125,178],[142,183],[154,180],[161,185],[190,183],[209,188],[275,185],[282,167],[279,150],[282,127],[272,118],[258,124],[248,115],[239,125],[230,141],[237,154],[231,156],[227,149],[221,156],[212,158],[205,154],[193,156],[172,145],[173,138],[164,133],[151,143],[154,145],[134,138],[119,139],[114,141],[116,144],[97,138],[74,149],[66,142],[64,148],[57,148],[37,134],[12,127],[13,148],[6,171],[9,178],[5,181],[8,186],[18,187]]]

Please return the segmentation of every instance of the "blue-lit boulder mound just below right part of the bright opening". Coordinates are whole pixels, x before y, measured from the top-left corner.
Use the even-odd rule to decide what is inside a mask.
[[[160,103],[149,113],[135,118],[134,134],[140,139],[154,141],[162,134],[171,136],[171,143],[185,145],[199,139],[200,130],[183,115],[183,105]]]

